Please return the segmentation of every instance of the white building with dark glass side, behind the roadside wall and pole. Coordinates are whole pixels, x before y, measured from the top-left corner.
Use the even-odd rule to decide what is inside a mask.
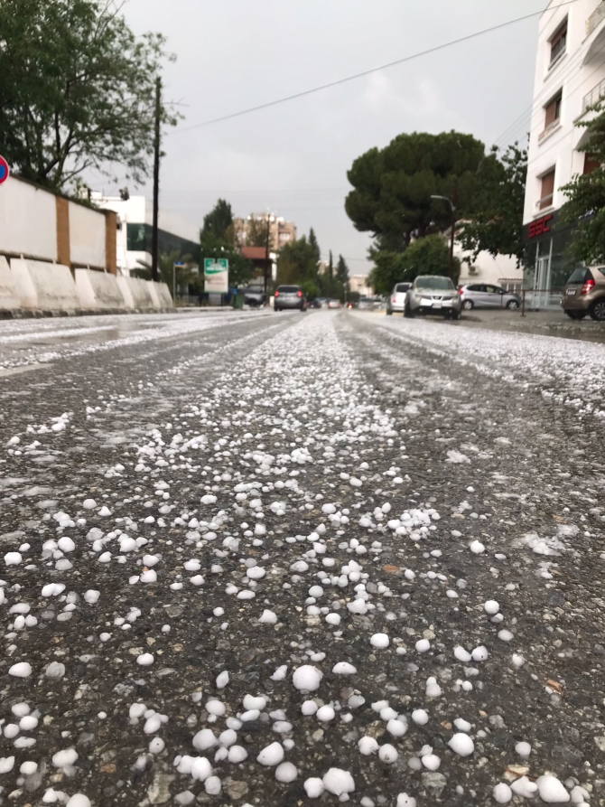
[[[151,264],[152,202],[144,196],[103,196],[93,192],[91,201],[101,210],[116,211],[117,268],[123,275],[141,264]],[[189,255],[197,262],[200,251],[200,228],[169,211],[159,211],[158,249]]]

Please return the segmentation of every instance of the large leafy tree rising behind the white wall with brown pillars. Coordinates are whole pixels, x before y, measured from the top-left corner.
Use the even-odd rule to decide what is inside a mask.
[[[61,190],[111,165],[141,183],[154,150],[165,40],[113,0],[0,0],[0,144],[16,172]],[[162,105],[164,124],[175,124]]]

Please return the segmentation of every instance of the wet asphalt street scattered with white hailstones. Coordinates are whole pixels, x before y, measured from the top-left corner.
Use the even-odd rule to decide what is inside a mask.
[[[605,346],[15,320],[0,380],[0,804],[605,804]]]

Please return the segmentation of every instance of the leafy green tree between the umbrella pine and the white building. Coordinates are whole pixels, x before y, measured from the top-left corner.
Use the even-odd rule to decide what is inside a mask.
[[[470,217],[458,225],[456,238],[462,249],[477,258],[481,250],[494,257],[524,253],[523,208],[526,195],[527,152],[515,143],[498,157],[494,146],[479,165],[478,187]]]

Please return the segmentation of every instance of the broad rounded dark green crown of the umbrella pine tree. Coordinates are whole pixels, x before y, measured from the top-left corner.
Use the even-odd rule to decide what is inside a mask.
[[[357,230],[374,234],[379,249],[405,249],[412,238],[451,224],[449,207],[432,195],[449,197],[462,214],[472,210],[484,153],[479,140],[459,132],[399,135],[354,161],[345,210]]]

